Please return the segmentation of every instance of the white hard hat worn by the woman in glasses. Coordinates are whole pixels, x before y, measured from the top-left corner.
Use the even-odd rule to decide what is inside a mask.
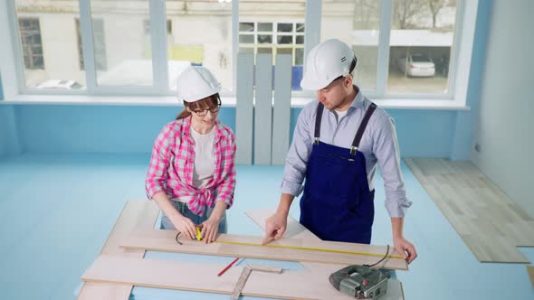
[[[214,74],[204,67],[189,67],[176,79],[178,99],[195,102],[221,91]]]

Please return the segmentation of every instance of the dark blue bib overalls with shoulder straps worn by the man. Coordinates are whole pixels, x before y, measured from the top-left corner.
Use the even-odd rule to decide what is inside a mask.
[[[320,239],[369,244],[375,217],[375,191],[369,192],[366,158],[358,151],[369,118],[377,108],[371,103],[350,149],[319,141],[324,106],[315,119],[315,142],[308,160],[300,223]]]

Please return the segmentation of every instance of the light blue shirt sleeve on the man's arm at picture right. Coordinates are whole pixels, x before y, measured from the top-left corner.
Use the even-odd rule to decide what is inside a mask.
[[[404,218],[412,202],[406,198],[401,172],[400,151],[396,138],[395,121],[389,115],[377,119],[373,153],[377,156],[386,191],[386,210],[392,218]]]

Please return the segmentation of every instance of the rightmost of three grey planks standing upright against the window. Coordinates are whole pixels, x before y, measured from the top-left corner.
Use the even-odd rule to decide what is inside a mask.
[[[274,73],[271,164],[283,165],[290,148],[291,55],[276,55]]]

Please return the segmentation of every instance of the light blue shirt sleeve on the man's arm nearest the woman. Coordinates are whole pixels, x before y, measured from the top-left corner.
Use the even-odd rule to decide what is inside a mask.
[[[317,103],[312,103],[300,112],[283,170],[282,193],[289,193],[297,197],[304,189],[302,182],[306,176],[306,164],[308,164],[313,145],[310,124],[314,124],[311,121],[314,120],[316,108]]]

